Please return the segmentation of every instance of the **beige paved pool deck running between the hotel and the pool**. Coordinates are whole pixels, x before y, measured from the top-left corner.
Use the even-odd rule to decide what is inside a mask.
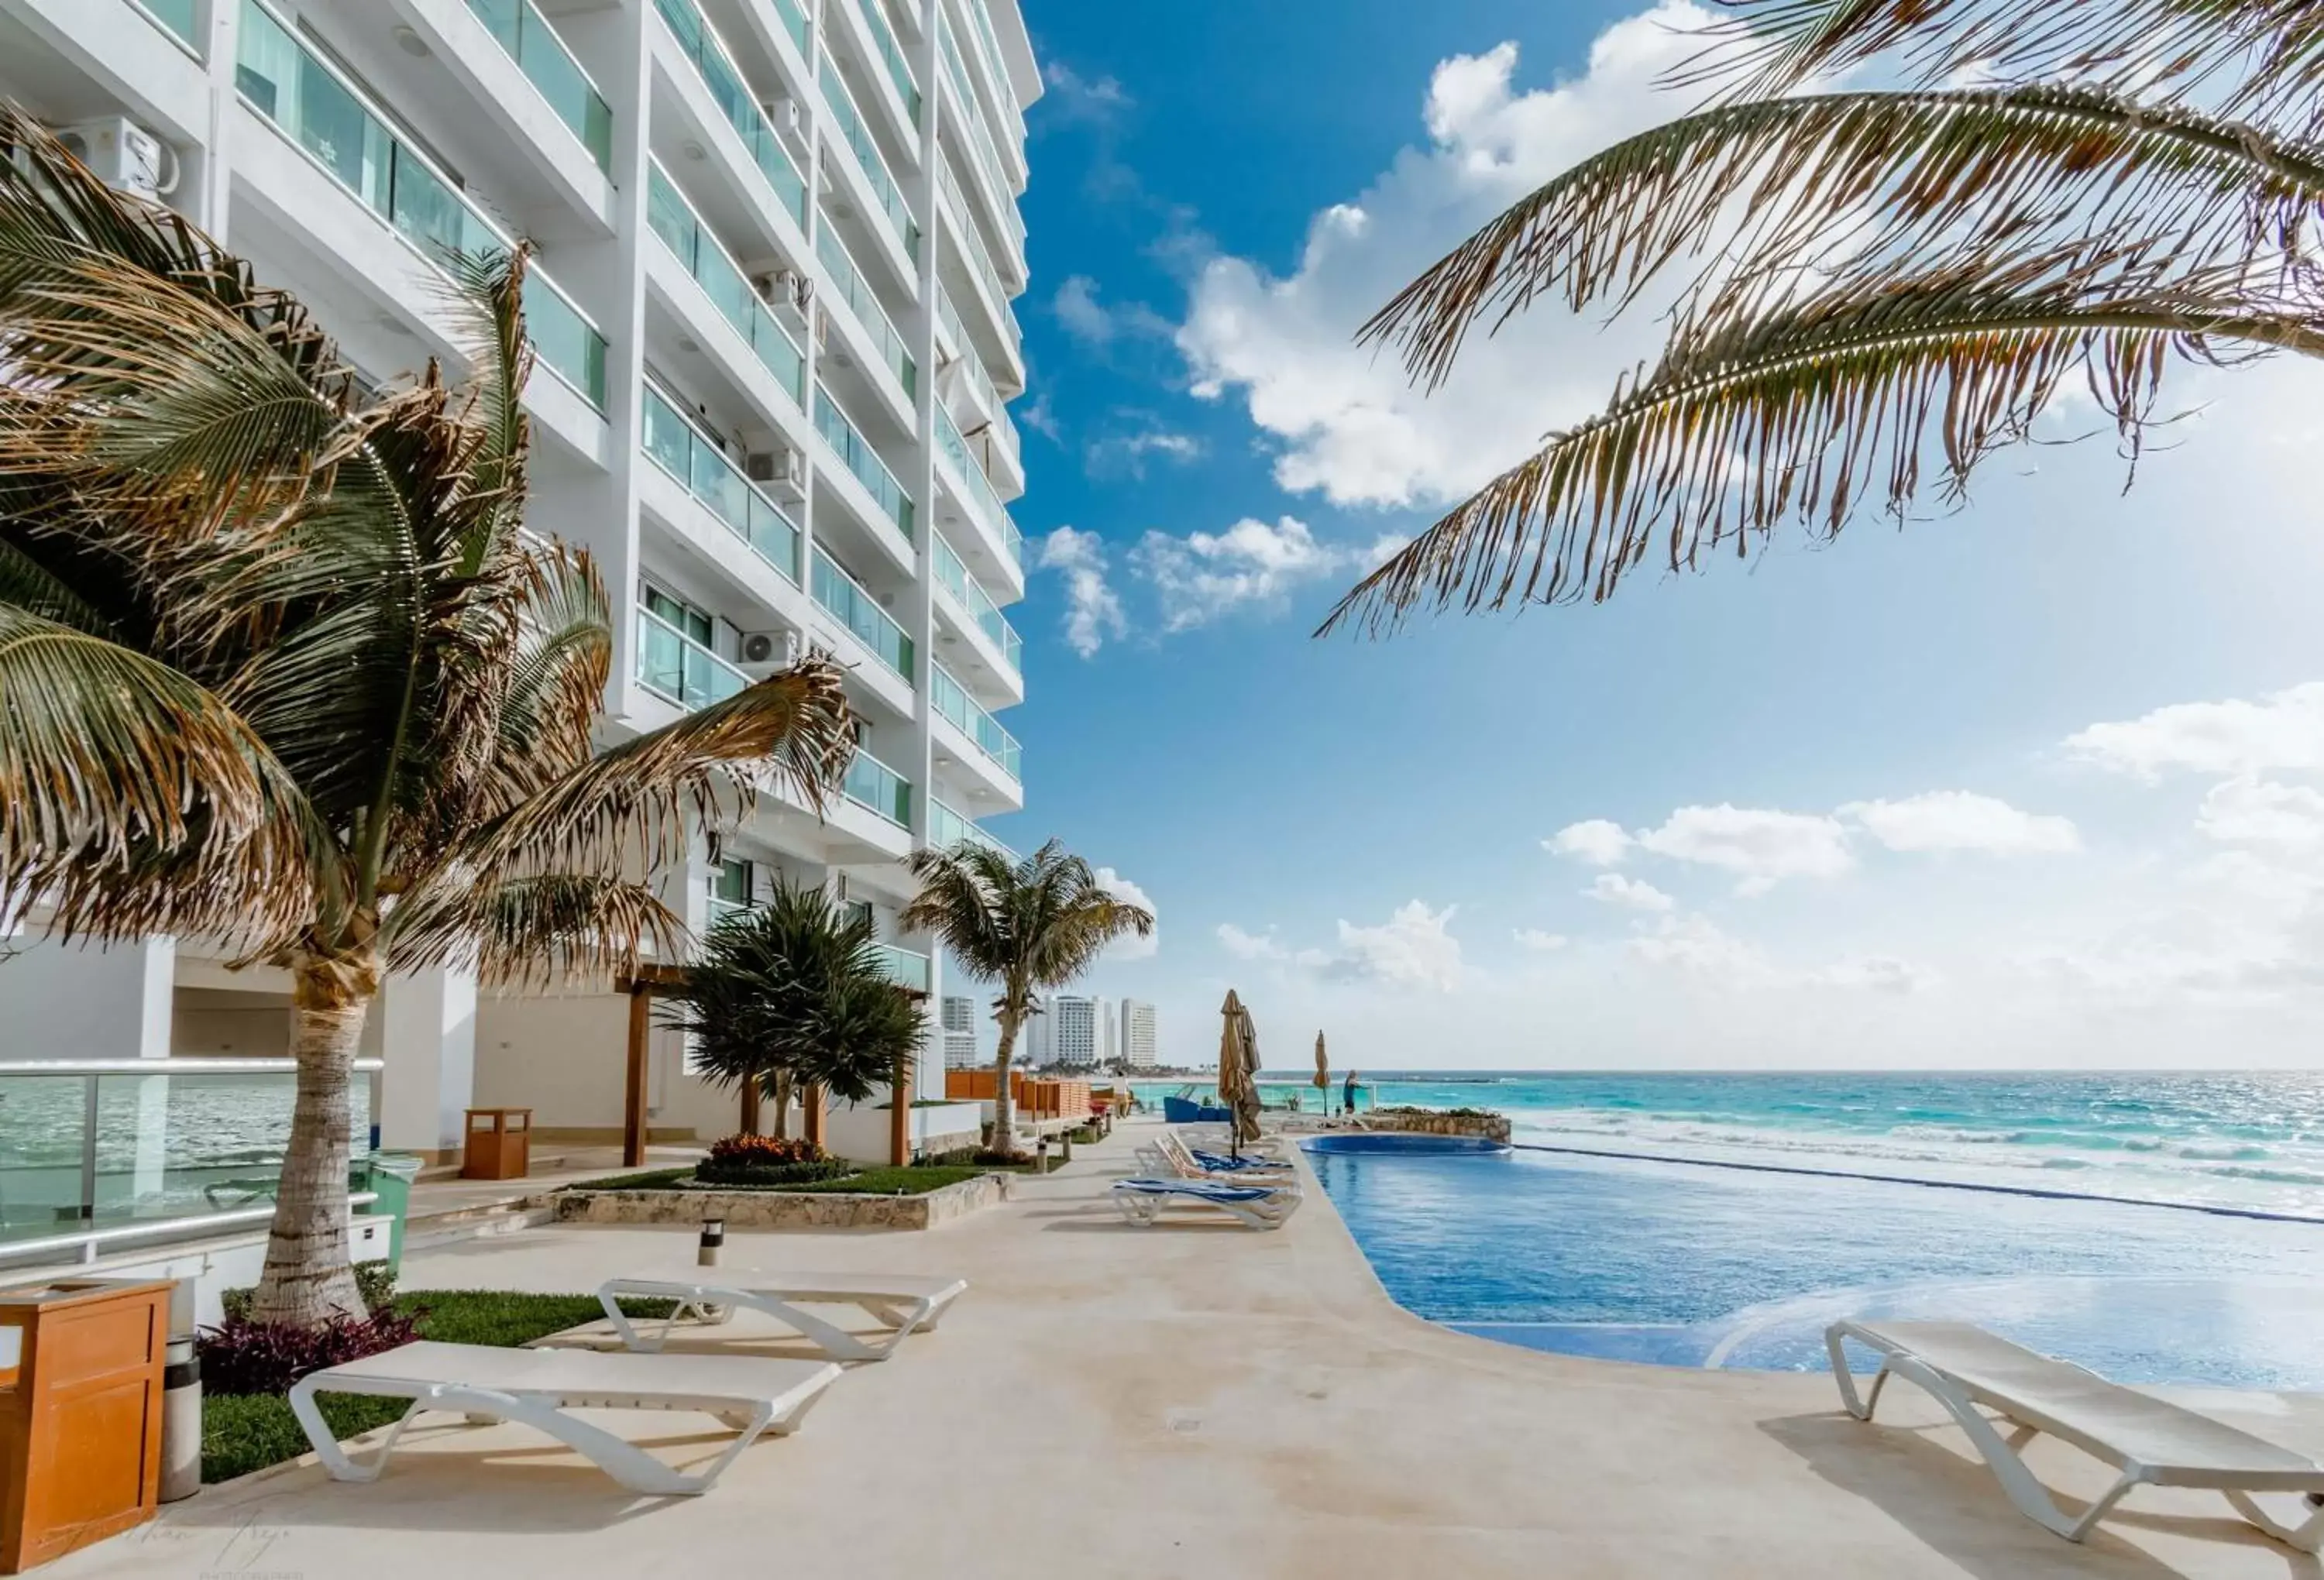
[[[1908,1387],[1864,1427],[1820,1376],[1585,1362],[1432,1327],[1387,1299],[1320,1194],[1281,1234],[1132,1229],[1104,1187],[1139,1129],[939,1231],[732,1236],[727,1269],[944,1271],[971,1290],[709,1496],[637,1499],[535,1434],[446,1417],[374,1485],[302,1464],[42,1573],[2324,1575],[2201,1494],[2133,1494],[2073,1547],[2017,1515]],[[690,1269],[693,1250],[669,1229],[530,1229],[421,1252],[404,1283],[588,1290]],[[2324,1399],[2201,1399],[2324,1450]],[[674,1462],[718,1450],[690,1417],[602,1420]],[[2045,1448],[2031,1459],[2054,1487],[2103,1485]]]

